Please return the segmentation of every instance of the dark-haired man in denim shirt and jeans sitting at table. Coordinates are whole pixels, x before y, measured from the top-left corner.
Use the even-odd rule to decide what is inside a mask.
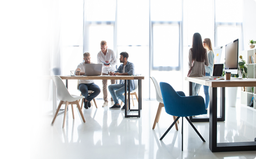
[[[119,68],[117,69],[117,71],[115,72],[110,72],[109,75],[114,75],[114,76],[130,76],[130,75],[134,75],[135,71],[134,71],[134,65],[132,62],[127,61],[129,57],[129,54],[127,52],[121,52],[120,53],[120,62],[122,62],[123,64],[121,64],[119,66]],[[128,85],[128,84],[127,84]],[[129,88],[128,88],[129,89]],[[135,84],[134,84],[134,80],[130,80],[130,91],[135,89]],[[116,90],[116,92],[115,92]],[[112,84],[109,85],[109,92],[115,102],[115,104],[110,107],[109,109],[120,109],[121,106],[118,102],[119,98],[120,100],[123,101],[123,103],[125,103],[124,99],[124,80],[120,80],[120,84]],[[122,107],[122,110],[124,110],[124,106]]]

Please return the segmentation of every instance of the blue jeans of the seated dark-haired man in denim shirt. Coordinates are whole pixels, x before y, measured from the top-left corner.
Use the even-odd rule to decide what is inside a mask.
[[[116,90],[116,92],[115,92]],[[128,91],[128,86],[127,86],[127,91]],[[122,100],[123,103],[125,103],[124,101],[124,84],[111,84],[109,85],[109,92],[115,102],[115,104],[119,104],[118,99]]]

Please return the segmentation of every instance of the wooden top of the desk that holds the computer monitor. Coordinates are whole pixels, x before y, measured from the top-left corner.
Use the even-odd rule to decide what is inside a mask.
[[[185,80],[210,87],[256,86],[256,79],[252,78],[218,80],[209,79],[207,77],[185,77]]]

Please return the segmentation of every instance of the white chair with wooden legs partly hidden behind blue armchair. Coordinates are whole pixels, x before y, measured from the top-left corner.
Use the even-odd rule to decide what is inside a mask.
[[[158,123],[158,121],[159,121],[162,107],[165,107],[165,105],[164,105],[164,102],[163,102],[163,98],[162,98],[162,93],[161,93],[161,90],[160,90],[160,86],[159,86],[157,80],[156,80],[154,77],[150,77],[150,78],[152,79],[152,81],[153,81],[153,83],[154,83],[156,99],[157,99],[157,101],[159,102],[158,111],[157,111],[157,114],[156,114],[156,116],[155,116],[154,124],[153,124],[153,129],[154,129],[156,123]],[[177,117],[173,116],[173,120],[175,120],[176,118],[177,118]],[[179,123],[179,120],[178,120],[177,122]],[[178,125],[177,125],[177,123],[175,123],[175,128],[176,128],[176,130],[178,130]]]

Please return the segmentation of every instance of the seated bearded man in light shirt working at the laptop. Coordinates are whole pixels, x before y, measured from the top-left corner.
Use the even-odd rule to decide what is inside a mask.
[[[80,75],[83,75],[85,71],[85,67],[87,63],[91,63],[91,57],[89,52],[84,53],[84,62],[81,62],[78,66],[76,71],[80,71]],[[76,74],[78,75],[78,74]],[[92,79],[79,79],[79,90],[81,91],[81,94],[85,97],[84,98],[84,108],[88,109],[88,107],[91,107],[91,100],[93,98],[97,97],[99,93],[101,93],[101,90],[98,85],[94,83],[94,80]],[[91,95],[88,95],[88,90],[94,91],[91,93]]]

